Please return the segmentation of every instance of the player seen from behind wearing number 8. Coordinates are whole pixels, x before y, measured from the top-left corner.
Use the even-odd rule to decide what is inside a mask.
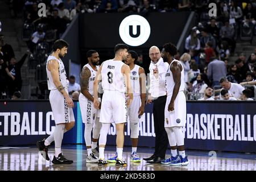
[[[96,79],[93,85],[94,101],[93,104],[98,109],[100,102],[98,101],[98,82],[102,80],[102,89],[104,91],[101,103],[100,122],[102,128],[100,131],[100,160],[99,166],[108,164],[104,157],[106,145],[106,137],[109,132],[110,123],[114,122],[117,129],[117,162],[116,165],[127,166],[125,160],[122,159],[123,142],[125,140],[124,126],[127,116],[127,107],[130,106],[133,100],[133,90],[130,84],[130,68],[122,61],[127,59],[128,46],[126,44],[117,44],[114,47],[115,57],[111,60],[106,60],[98,69]],[[127,92],[127,107],[126,97]]]

